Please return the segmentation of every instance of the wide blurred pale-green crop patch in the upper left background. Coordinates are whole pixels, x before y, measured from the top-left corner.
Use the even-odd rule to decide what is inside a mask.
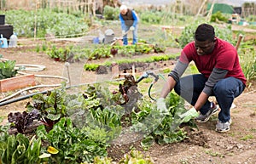
[[[0,11],[1,12],[1,11]],[[84,16],[67,14],[54,9],[35,10],[6,10],[6,20],[15,27],[20,37],[34,37],[35,15],[37,15],[36,37],[45,37],[46,34],[55,37],[77,37],[85,33],[89,25]]]

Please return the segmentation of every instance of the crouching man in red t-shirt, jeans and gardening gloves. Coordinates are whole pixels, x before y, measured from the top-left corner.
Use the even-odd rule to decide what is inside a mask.
[[[191,61],[195,62],[200,74],[182,77]],[[208,100],[210,96],[215,96],[221,109],[216,131],[224,133],[230,130],[230,107],[243,92],[246,82],[236,48],[215,37],[212,25],[201,24],[195,31],[195,41],[183,48],[177,65],[168,75],[157,99],[158,110],[167,110],[164,99],[174,88],[177,94],[193,105],[184,116],[195,117],[197,122],[207,122],[218,112],[218,107]]]

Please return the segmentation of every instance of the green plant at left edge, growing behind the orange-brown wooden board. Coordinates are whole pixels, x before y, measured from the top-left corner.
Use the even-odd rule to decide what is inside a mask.
[[[18,71],[15,70],[15,63],[15,60],[0,62],[0,80],[16,76]]]

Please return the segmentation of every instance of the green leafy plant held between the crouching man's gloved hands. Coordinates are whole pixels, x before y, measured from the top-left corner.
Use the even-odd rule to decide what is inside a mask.
[[[133,127],[135,132],[147,133],[141,144],[147,150],[155,142],[158,144],[170,144],[180,142],[186,138],[186,133],[179,128],[178,114],[185,112],[184,100],[177,94],[170,93],[166,98],[166,106],[170,113],[161,116],[155,105],[144,102],[140,105],[140,111],[132,114]],[[142,123],[143,121],[143,123]]]

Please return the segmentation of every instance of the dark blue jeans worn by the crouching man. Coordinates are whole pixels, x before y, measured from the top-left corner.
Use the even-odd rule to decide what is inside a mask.
[[[183,97],[190,105],[195,105],[200,93],[205,87],[207,78],[201,74],[183,76],[180,78],[174,87],[175,92]],[[220,107],[218,113],[218,120],[220,122],[230,121],[230,107],[234,99],[239,96],[245,88],[245,85],[241,80],[235,77],[227,77],[218,81],[213,87],[213,93],[211,96],[215,96]],[[211,108],[210,102],[207,100],[206,104],[200,109],[201,114],[207,114],[207,111]]]

